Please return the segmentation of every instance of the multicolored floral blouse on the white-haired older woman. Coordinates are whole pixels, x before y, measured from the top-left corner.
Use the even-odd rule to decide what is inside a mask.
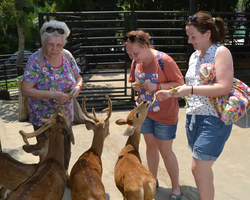
[[[53,67],[44,57],[44,65],[39,66],[39,53],[36,51],[29,58],[23,75],[23,80],[35,82],[35,88],[38,90],[61,91],[69,94],[76,85],[74,74],[79,74],[79,68],[71,53],[67,53],[68,61],[62,55],[62,65]],[[41,61],[40,61],[41,62]],[[54,99],[28,99],[29,120],[33,125],[41,126],[40,118],[48,119],[51,114],[55,113],[58,105],[64,107],[65,115],[70,122],[73,122],[73,103],[72,99],[60,104]]]

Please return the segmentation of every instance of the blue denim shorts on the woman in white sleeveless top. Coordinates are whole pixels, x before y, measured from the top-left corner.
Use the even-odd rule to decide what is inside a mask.
[[[225,125],[215,116],[195,115],[193,130],[190,130],[191,117],[187,115],[186,133],[193,157],[198,160],[215,161],[221,154],[233,125]]]

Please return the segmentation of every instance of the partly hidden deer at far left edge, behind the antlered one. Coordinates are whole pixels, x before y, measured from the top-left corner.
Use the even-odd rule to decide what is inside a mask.
[[[19,185],[33,175],[40,164],[44,161],[48,152],[48,138],[42,138],[34,145],[23,145],[26,153],[39,151],[40,160],[38,163],[27,164],[12,158],[8,153],[0,153],[0,194],[6,198],[7,190],[15,190]]]

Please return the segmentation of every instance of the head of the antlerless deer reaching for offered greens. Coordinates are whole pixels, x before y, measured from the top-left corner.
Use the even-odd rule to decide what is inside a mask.
[[[149,105],[150,102],[142,101],[128,114],[126,119],[118,119],[115,122],[117,125],[128,125],[124,132],[125,136],[131,136],[137,128],[141,128],[141,125],[147,116]]]

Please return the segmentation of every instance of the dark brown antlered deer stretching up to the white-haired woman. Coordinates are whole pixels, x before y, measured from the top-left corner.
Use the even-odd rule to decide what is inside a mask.
[[[66,187],[64,169],[64,137],[69,134],[72,144],[75,143],[72,127],[58,106],[49,119],[41,119],[44,125],[32,133],[20,130],[26,144],[28,138],[41,133],[49,138],[48,153],[37,171],[22,183],[9,200],[61,200]]]

